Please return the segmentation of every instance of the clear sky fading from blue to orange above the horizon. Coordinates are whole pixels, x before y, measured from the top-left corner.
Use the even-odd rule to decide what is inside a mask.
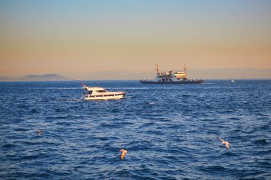
[[[0,76],[271,69],[269,0],[0,0]]]

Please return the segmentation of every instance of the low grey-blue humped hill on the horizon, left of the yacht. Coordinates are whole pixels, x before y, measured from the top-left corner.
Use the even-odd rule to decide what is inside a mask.
[[[57,74],[46,74],[46,75],[26,75],[20,80],[26,80],[26,81],[36,81],[36,80],[44,80],[44,81],[49,81],[49,80],[70,80],[69,78],[66,78],[62,75],[57,75]]]

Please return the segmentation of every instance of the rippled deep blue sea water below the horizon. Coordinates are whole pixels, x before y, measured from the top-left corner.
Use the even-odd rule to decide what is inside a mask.
[[[271,80],[80,83],[0,83],[0,179],[271,179]]]

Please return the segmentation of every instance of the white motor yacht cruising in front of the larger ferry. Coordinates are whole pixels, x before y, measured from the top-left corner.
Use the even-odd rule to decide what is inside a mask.
[[[108,92],[101,87],[82,86],[83,90],[85,90],[80,98],[82,100],[116,100],[123,98],[125,95],[125,92]]]

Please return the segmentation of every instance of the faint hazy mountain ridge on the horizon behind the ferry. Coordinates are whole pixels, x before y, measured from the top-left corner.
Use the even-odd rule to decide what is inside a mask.
[[[189,69],[186,70],[188,79],[271,79],[271,69]],[[141,80],[154,79],[155,71],[97,71],[77,73],[82,80]]]

